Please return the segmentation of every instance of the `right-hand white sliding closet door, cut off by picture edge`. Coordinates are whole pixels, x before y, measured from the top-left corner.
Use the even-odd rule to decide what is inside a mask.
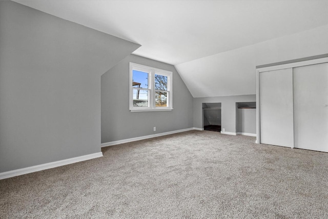
[[[328,63],[294,68],[295,148],[328,152]]]

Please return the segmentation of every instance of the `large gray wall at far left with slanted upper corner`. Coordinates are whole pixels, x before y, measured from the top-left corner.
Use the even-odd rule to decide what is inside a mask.
[[[0,1],[0,172],[100,152],[100,75],[138,47]]]

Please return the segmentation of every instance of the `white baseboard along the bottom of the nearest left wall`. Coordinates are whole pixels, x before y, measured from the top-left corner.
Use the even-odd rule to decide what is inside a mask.
[[[77,156],[73,158],[69,158],[66,160],[61,160],[61,161],[55,161],[51,163],[46,163],[46,164],[40,164],[32,167],[26,167],[22,169],[17,169],[17,170],[11,170],[7,172],[2,172],[0,173],[0,180],[3,180],[4,178],[10,178],[18,175],[23,175],[27,173],[32,173],[40,170],[46,170],[54,167],[60,167],[68,164],[73,164],[76,162],[81,162],[81,161],[87,161],[93,158],[101,157],[103,156],[102,152],[98,153],[93,153],[93,154],[88,154],[88,155],[83,155],[83,156]]]

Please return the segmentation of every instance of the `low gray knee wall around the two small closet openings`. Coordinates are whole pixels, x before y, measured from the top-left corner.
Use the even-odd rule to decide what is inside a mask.
[[[202,103],[221,103],[221,129],[226,132],[236,132],[236,103],[255,102],[256,95],[216,96],[194,98],[194,127],[203,128]],[[256,123],[256,121],[254,121]]]

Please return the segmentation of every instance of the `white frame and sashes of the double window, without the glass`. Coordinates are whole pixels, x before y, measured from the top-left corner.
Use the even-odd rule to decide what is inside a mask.
[[[148,73],[148,88],[138,88],[140,90],[148,90],[148,107],[134,107],[133,106],[133,87],[132,87],[132,76],[133,70],[143,71]],[[156,99],[156,91],[162,90],[155,90],[155,74],[165,75],[168,77],[168,88],[167,92],[167,107],[156,107],[155,106],[155,99]],[[136,63],[130,63],[130,80],[129,80],[129,109],[131,112],[147,112],[147,111],[171,111],[173,110],[173,73],[172,71],[162,70],[158,68],[153,68],[149,66],[144,66]]]

